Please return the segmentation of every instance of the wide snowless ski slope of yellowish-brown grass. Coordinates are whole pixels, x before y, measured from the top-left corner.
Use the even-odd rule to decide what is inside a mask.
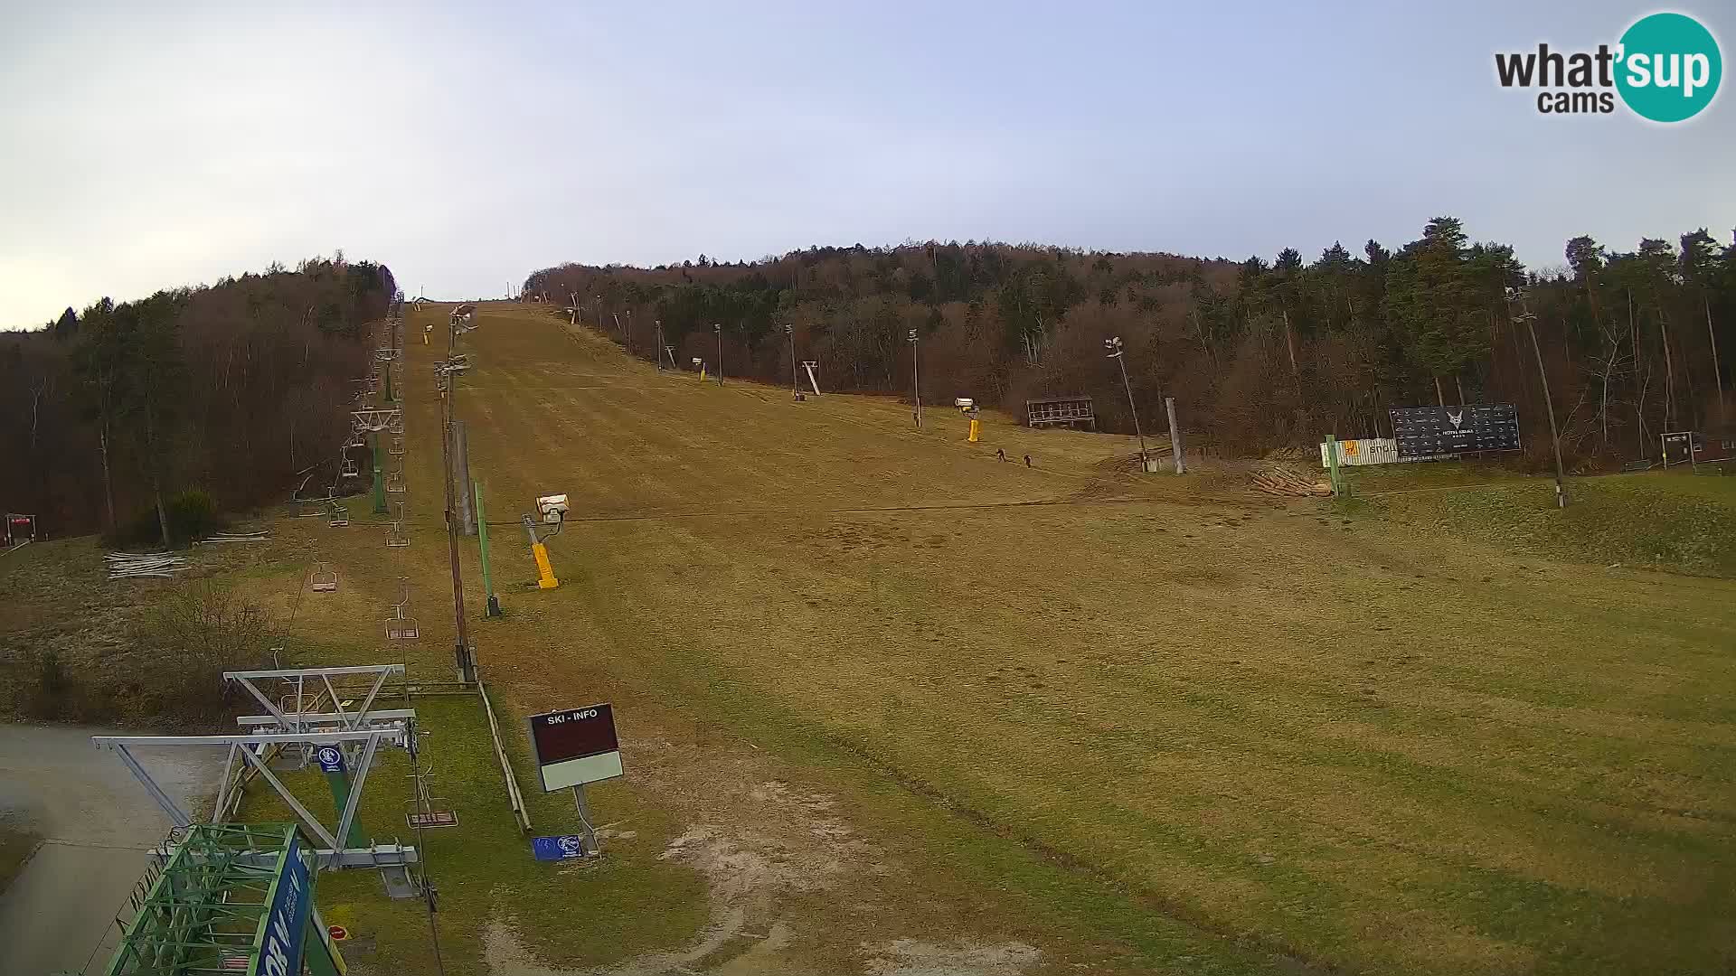
[[[439,667],[427,321],[410,564]],[[776,762],[830,797],[818,820],[868,844],[837,874],[743,908],[717,901],[727,856],[693,861],[712,917],[785,926],[795,971],[918,929],[1035,946],[995,962],[1031,973],[1736,964],[1729,580],[1276,504],[1233,472],[1135,479],[1127,438],[990,422],[970,446],[950,410],[917,432],[889,399],[701,386],[523,306],[484,304],[464,344],[509,613],[476,623],[483,667],[519,712],[613,698],[661,743],[623,788],[682,830],[748,837],[767,790],[696,769]],[[526,592],[516,523],[550,491],[562,587]]]

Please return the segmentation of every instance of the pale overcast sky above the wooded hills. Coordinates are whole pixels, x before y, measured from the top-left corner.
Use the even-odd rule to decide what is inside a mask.
[[[1649,3],[252,7],[7,10],[0,328],[337,248],[477,297],[811,243],[1312,259],[1453,214],[1554,266],[1736,226],[1729,92],[1660,127],[1495,83]],[[1731,56],[1727,3],[1674,9]]]

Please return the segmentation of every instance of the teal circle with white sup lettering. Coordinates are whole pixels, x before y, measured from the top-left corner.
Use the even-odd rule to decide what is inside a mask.
[[[1719,42],[1686,14],[1651,14],[1621,35],[1616,90],[1642,118],[1682,122],[1719,94]]]

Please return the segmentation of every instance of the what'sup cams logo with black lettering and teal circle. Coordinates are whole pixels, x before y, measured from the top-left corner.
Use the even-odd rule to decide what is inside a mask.
[[[1616,96],[1641,118],[1686,122],[1712,104],[1724,78],[1719,42],[1687,14],[1651,14],[1597,50],[1498,52],[1503,89],[1538,89],[1543,115],[1608,115]]]

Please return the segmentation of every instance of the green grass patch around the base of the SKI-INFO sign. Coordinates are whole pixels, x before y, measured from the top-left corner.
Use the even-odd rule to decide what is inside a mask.
[[[396,707],[396,705],[394,705]],[[595,861],[543,863],[531,856],[507,806],[505,783],[488,735],[483,705],[469,695],[413,700],[422,736],[422,762],[431,790],[458,811],[458,827],[406,827],[413,797],[410,761],[385,750],[370,773],[361,823],[375,842],[417,844],[424,868],[439,893],[439,953],[450,974],[486,974],[484,936],[491,922],[510,926],[519,945],[562,966],[608,966],[634,953],[693,940],[707,920],[705,884],[686,865],[660,861],[675,825],[620,783],[590,787],[599,827],[630,820],[635,835],[604,841]],[[496,707],[502,733],[514,750],[514,768],[526,790],[536,834],[576,832],[571,794],[542,794],[512,736],[516,717]],[[330,788],[318,768],[281,776],[297,799],[328,827],[337,821]],[[245,820],[293,820],[266,783],[243,804]],[[432,973],[434,943],[420,900],[392,901],[373,872],[328,872],[319,877],[319,910],[328,924],[351,931],[347,955],[380,973]]]

